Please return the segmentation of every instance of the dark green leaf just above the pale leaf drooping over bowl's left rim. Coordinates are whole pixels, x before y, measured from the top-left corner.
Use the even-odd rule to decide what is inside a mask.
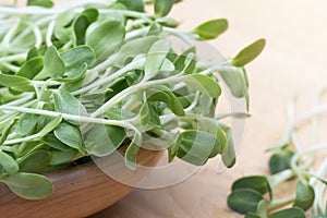
[[[22,172],[44,172],[50,164],[51,153],[45,149],[34,150],[20,160],[20,171]]]

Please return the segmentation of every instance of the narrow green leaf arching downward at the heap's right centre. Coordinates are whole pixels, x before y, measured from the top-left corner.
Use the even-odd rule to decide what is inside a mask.
[[[184,109],[175,95],[166,86],[157,86],[156,88],[147,89],[148,101],[161,101],[177,116],[184,116]]]

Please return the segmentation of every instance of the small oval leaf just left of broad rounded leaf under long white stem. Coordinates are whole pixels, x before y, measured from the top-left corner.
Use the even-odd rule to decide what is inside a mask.
[[[82,150],[84,147],[81,131],[74,125],[61,123],[55,129],[53,134],[60,142],[72,148]]]

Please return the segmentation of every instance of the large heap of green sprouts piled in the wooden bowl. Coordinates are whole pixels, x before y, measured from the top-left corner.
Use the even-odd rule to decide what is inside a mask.
[[[16,14],[0,8],[1,182],[21,197],[45,198],[53,186],[44,172],[125,144],[125,164],[134,170],[144,142],[167,149],[169,161],[202,166],[220,154],[233,166],[231,130],[215,113],[220,82],[199,63],[193,45],[177,53],[167,38],[211,39],[227,21],[182,32],[166,17],[173,3],[154,1],[154,15],[144,12],[142,0],[58,9],[29,0],[44,8]],[[243,66],[264,44],[220,63],[235,97],[249,99]]]

